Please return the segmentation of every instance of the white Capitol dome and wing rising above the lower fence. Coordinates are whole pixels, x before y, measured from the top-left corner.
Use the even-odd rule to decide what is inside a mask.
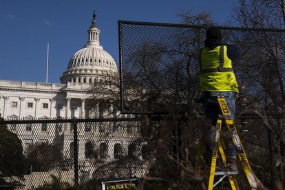
[[[100,45],[96,14],[88,41],[67,65],[58,83],[0,80],[0,114],[3,118],[85,117],[91,83],[118,75],[112,56]]]

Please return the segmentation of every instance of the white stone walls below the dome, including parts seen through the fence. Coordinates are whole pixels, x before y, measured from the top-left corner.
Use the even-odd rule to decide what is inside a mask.
[[[89,109],[88,105],[85,105],[89,96],[87,94],[88,88],[88,84],[78,83],[62,85],[0,80],[0,114],[5,119],[84,118]],[[107,98],[107,96],[102,95],[100,97]],[[17,107],[12,107],[12,102],[17,103]],[[32,104],[32,107],[28,106],[29,103]],[[43,107],[43,104],[46,104],[47,108]],[[100,103],[98,103],[98,107],[100,107]],[[101,111],[98,110],[98,107],[95,110],[96,116],[105,116],[107,111],[102,111],[103,113],[99,114]],[[56,138],[55,124],[52,125],[53,127],[47,127],[46,131],[42,130],[41,125],[43,124],[32,125],[31,130],[26,129],[27,125],[21,125],[21,128],[17,127],[12,130],[22,140],[24,152],[29,145],[34,143],[54,142]],[[70,143],[74,141],[73,130],[70,128],[70,124],[65,124],[60,134],[58,134],[64,136],[63,155],[65,158],[71,157]],[[136,138],[134,134],[136,134],[136,131],[128,134],[126,127],[120,127],[117,132],[112,134],[112,138],[107,138],[107,136],[101,134],[98,125],[87,132],[84,125],[78,124],[78,160],[81,164],[84,164],[86,160],[85,144],[88,141],[93,143],[96,150],[99,149],[101,143],[105,142],[107,144],[107,160],[114,160],[114,145],[116,143],[122,146],[122,154],[127,155],[128,145]]]

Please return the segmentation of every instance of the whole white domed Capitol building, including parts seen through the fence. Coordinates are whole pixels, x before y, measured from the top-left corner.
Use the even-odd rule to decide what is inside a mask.
[[[112,56],[103,50],[100,45],[100,30],[96,26],[96,13],[93,14],[92,25],[88,32],[88,41],[83,49],[78,50],[70,59],[67,69],[63,72],[60,80],[61,83],[34,83],[26,81],[8,81],[0,80],[0,114],[4,119],[15,118],[85,118],[88,117],[89,111],[93,110],[92,117],[104,117],[112,110],[101,109],[100,98],[103,98],[100,89],[97,90],[98,102],[89,104],[90,87],[94,83],[101,81],[110,81],[118,77],[116,63]],[[100,94],[101,92],[101,94]],[[105,97],[106,98],[106,97]],[[112,116],[118,116],[115,112]],[[99,126],[100,127],[100,126]],[[19,126],[11,125],[10,130],[18,135],[22,140],[24,153],[28,147],[34,143],[53,143],[55,138],[63,140],[62,152],[65,158],[72,158],[73,151],[73,132],[68,127],[63,127],[59,131],[55,127],[33,127],[26,125],[19,129]],[[105,151],[105,158],[112,161],[116,158],[115,149],[122,150],[125,154],[128,147],[132,145],[131,136],[136,136],[136,131],[129,131],[127,127],[120,127],[121,131],[113,134],[112,138],[103,136],[101,133],[104,129],[90,129],[78,127],[78,160],[81,169],[88,159],[85,154],[86,145],[90,142],[94,149]],[[96,130],[96,131],[92,131]],[[140,147],[141,148],[141,147]],[[125,150],[124,150],[125,149]],[[118,153],[116,153],[118,154]],[[92,171],[89,176],[92,175]]]

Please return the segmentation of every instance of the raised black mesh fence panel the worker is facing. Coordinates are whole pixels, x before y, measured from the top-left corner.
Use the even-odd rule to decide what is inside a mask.
[[[120,92],[125,113],[201,111],[198,51],[207,25],[118,21]],[[219,27],[233,63],[241,109],[283,112],[285,30]]]

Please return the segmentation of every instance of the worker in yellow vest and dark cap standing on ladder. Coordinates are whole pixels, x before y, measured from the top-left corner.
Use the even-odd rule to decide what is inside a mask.
[[[218,27],[210,27],[206,30],[206,41],[204,47],[198,53],[200,63],[200,102],[203,103],[204,114],[211,125],[204,129],[206,151],[204,160],[211,165],[213,142],[215,136],[215,125],[218,115],[221,114],[220,105],[216,97],[217,92],[223,93],[229,107],[231,117],[235,117],[235,97],[238,94],[237,81],[232,68],[232,61],[240,56],[240,51],[234,45],[222,43],[222,33]],[[225,127],[222,127],[222,129]],[[225,142],[226,160],[229,169],[237,170],[237,153],[227,131],[222,131],[221,136]]]

